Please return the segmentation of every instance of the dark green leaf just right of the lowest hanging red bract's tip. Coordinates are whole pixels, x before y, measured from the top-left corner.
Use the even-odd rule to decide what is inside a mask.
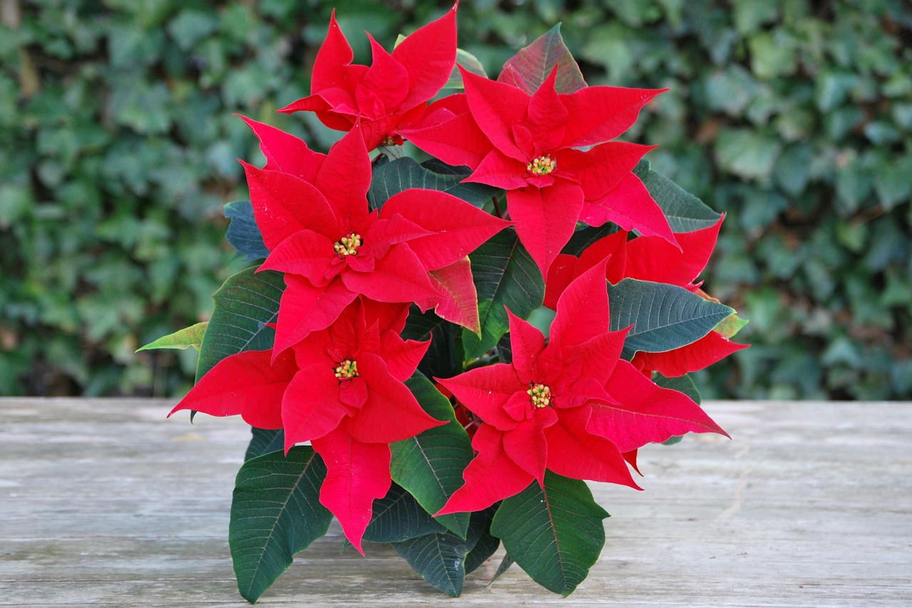
[[[401,542],[445,531],[446,528],[421,508],[415,497],[394,483],[385,497],[374,500],[374,512],[364,531],[364,540]]]

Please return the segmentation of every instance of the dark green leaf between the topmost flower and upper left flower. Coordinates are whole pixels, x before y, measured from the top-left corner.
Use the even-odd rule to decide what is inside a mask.
[[[394,194],[409,188],[446,192],[481,208],[502,191],[479,183],[461,183],[471,173],[468,168],[456,168],[442,163],[418,164],[412,159],[390,160],[374,167],[370,180],[368,202],[371,209],[380,209]],[[464,170],[463,170],[464,169]]]

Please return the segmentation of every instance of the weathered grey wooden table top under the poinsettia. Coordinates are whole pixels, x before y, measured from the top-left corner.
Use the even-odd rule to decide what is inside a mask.
[[[228,551],[238,419],[170,402],[0,399],[0,605],[244,606]],[[636,490],[594,484],[612,518],[569,598],[503,550],[459,600],[394,551],[299,554],[263,605],[912,606],[912,404],[710,402],[733,438],[641,451]]]

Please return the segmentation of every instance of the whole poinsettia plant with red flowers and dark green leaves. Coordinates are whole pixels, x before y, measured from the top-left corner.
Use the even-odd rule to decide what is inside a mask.
[[[369,67],[333,15],[279,111],[341,138],[241,117],[265,164],[227,238],[254,265],[148,346],[200,351],[171,414],[253,429],[229,531],[250,602],[334,517],[445,593],[503,544],[499,572],[566,595],[605,541],[586,481],[637,489],[639,448],[725,434],[688,376],[744,347],[699,282],[722,218],[615,140],[663,91],[587,86],[558,27],[492,80],[456,10],[371,38]]]

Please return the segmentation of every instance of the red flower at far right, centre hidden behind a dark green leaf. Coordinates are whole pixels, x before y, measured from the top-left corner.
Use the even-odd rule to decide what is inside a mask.
[[[561,253],[548,273],[544,305],[555,309],[557,299],[567,284],[602,261],[606,261],[608,283],[618,283],[623,279],[669,283],[711,299],[694,282],[710,261],[722,219],[702,230],[676,232],[675,239],[680,249],[654,236],[639,236],[628,241],[628,232],[622,230],[592,243],[579,258]],[[747,345],[731,342],[719,332],[712,331],[692,344],[665,353],[637,352],[632,363],[648,376],[653,371],[662,376],[683,376],[710,366],[742,348],[747,348]]]

